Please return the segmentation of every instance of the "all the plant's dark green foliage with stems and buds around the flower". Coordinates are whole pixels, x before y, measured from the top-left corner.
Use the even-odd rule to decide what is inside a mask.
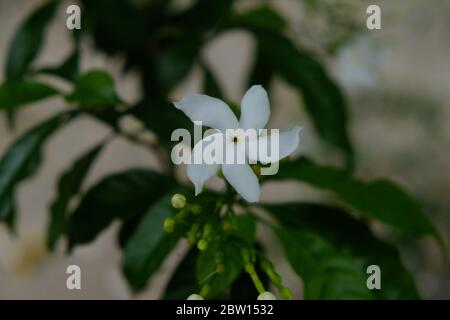
[[[261,177],[261,182],[294,179],[332,192],[343,205],[251,207],[230,188],[194,197],[191,186],[176,180],[169,162],[165,173],[130,168],[85,190],[84,181],[111,140],[107,139],[61,174],[58,194],[49,206],[49,248],[54,249],[61,237],[67,239],[69,250],[91,243],[118,221],[122,269],[134,291],[144,289],[177,243],[187,238],[194,247],[178,265],[164,297],[185,298],[198,292],[207,298],[253,298],[271,283],[283,298],[290,298],[255,237],[261,220],[254,209],[259,207],[274,218],[270,227],[303,280],[305,298],[418,298],[398,249],[374,235],[370,222],[379,221],[415,239],[427,235],[439,239],[436,229],[400,186],[387,180],[364,182],[352,175],[356,163],[344,95],[320,59],[287,36],[289,25],[283,16],[269,5],[237,13],[234,2],[196,0],[183,11],[174,11],[171,1],[165,0],[81,0],[83,28],[81,33],[73,31],[74,51],[61,64],[40,69],[33,62],[59,1],[36,8],[11,41],[0,86],[0,111],[12,119],[19,108],[52,96],[62,96],[72,111],[32,128],[5,151],[0,161],[0,221],[14,227],[17,185],[38,170],[42,147],[51,135],[79,115],[106,123],[114,135],[145,143],[117,126],[121,117],[138,119],[158,137],[157,147],[150,147],[164,161],[172,130],[190,127],[188,119],[171,106],[169,93],[197,64],[204,73],[205,93],[226,98],[201,50],[223,32],[239,29],[257,44],[249,83],[269,89],[274,76],[286,81],[302,97],[318,136],[340,150],[345,160],[343,168],[321,166],[306,158],[283,161],[278,175]],[[79,43],[87,38],[101,52],[124,56],[123,72],[139,70],[141,101],[133,105],[123,101],[106,71],[79,69],[83,54]],[[40,74],[70,83],[70,93],[38,80]],[[171,205],[175,193],[187,197],[182,208]],[[75,207],[69,206],[73,200],[78,200]],[[366,287],[366,268],[371,264],[383,270],[382,290]]]

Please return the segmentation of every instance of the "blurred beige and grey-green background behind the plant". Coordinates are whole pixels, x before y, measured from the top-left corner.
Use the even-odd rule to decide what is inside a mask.
[[[291,38],[322,57],[328,70],[344,89],[350,108],[350,133],[355,146],[356,174],[362,178],[387,177],[405,187],[425,208],[447,241],[450,234],[450,0],[321,0],[311,13],[307,1],[237,1],[237,10],[267,2],[288,19]],[[0,0],[0,70],[4,69],[11,37],[25,17],[39,6],[39,0]],[[186,7],[190,1],[174,1]],[[63,8],[51,23],[36,65],[61,61],[71,50]],[[382,29],[367,30],[366,8],[382,9]],[[176,9],[176,8],[175,8]],[[83,13],[82,13],[83,15]],[[82,16],[83,19],[83,16]],[[121,73],[123,58],[108,57],[94,50],[86,39],[81,61],[83,71],[104,68],[115,78],[116,88],[125,100],[139,98],[139,83],[133,72]],[[227,32],[202,51],[218,76],[226,96],[239,101],[245,88],[244,72],[251,65],[254,49],[245,32]],[[330,54],[332,52],[332,54]],[[0,74],[0,80],[3,80]],[[202,77],[194,67],[173,99],[201,91]],[[269,127],[291,124],[305,127],[300,152],[321,162],[333,163],[335,155],[322,149],[312,124],[301,108],[295,92],[281,81],[272,84],[271,104],[276,111]],[[21,110],[16,131],[0,123],[0,154],[33,124],[61,110],[60,98],[45,100],[38,107]],[[2,119],[3,120],[3,119]],[[120,272],[120,252],[114,240],[113,225],[93,243],[77,248],[67,256],[62,248],[49,254],[45,247],[48,203],[55,195],[59,173],[74,157],[102,140],[109,129],[83,118],[72,122],[51,138],[38,173],[20,185],[17,234],[0,225],[0,299],[127,299],[131,294]],[[151,153],[120,139],[114,140],[96,162],[87,185],[107,173],[132,165],[158,167]],[[319,195],[296,184],[267,185],[265,201],[312,199]],[[383,201],[383,199],[380,199]],[[258,230],[269,248],[275,240]],[[383,230],[380,230],[383,232]],[[419,290],[426,299],[450,298],[450,270],[432,240],[402,241],[402,252]],[[288,277],[295,298],[301,298],[301,283],[272,246],[272,259]],[[180,246],[137,298],[155,299],[173,271],[174,262],[185,252]],[[66,267],[82,269],[82,290],[66,289]]]

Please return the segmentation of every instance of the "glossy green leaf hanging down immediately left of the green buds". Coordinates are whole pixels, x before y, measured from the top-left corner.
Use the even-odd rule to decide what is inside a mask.
[[[167,233],[163,228],[164,220],[178,211],[170,203],[171,196],[161,198],[147,210],[125,247],[122,270],[134,291],[145,287],[180,239],[181,233]]]

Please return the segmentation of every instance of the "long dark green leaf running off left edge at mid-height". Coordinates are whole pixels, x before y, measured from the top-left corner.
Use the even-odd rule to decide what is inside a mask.
[[[11,228],[15,220],[17,184],[36,172],[41,163],[42,145],[71,115],[61,113],[34,127],[14,142],[0,160],[0,221]]]

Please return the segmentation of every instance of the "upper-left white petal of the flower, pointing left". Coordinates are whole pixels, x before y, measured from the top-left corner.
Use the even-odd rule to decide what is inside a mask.
[[[202,121],[206,127],[219,130],[237,129],[238,121],[230,107],[222,100],[200,94],[186,96],[173,103],[192,122]]]

